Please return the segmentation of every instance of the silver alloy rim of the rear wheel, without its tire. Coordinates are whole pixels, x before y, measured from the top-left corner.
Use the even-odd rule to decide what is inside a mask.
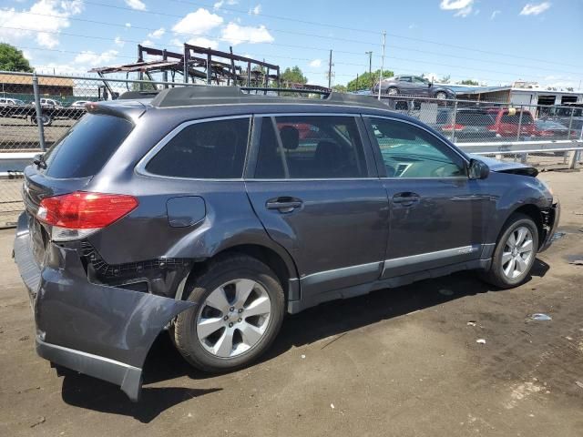
[[[235,279],[213,290],[197,317],[202,347],[219,358],[251,350],[270,323],[271,300],[263,286],[251,279]]]

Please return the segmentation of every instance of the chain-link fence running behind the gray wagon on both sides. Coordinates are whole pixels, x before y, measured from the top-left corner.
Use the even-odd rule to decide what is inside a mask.
[[[85,114],[85,104],[127,91],[197,86],[182,82],[49,76],[0,72],[0,228],[14,225],[23,209],[22,171]],[[248,91],[275,94],[274,89]],[[292,90],[279,92],[292,96]],[[314,92],[310,97],[320,97]],[[371,97],[373,98],[373,97]],[[508,104],[426,97],[383,96],[390,109],[441,132],[468,153],[539,168],[573,166],[582,147],[581,107]]]

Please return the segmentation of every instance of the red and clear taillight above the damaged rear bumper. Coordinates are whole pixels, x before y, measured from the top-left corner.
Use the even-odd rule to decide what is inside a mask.
[[[36,218],[51,225],[51,239],[82,239],[138,207],[138,199],[121,194],[75,193],[44,198]]]

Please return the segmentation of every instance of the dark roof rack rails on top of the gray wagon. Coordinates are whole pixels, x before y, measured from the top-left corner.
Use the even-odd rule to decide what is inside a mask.
[[[261,95],[251,94],[251,91],[259,91]],[[267,94],[267,93],[271,93]],[[277,93],[273,95],[272,93]],[[264,88],[252,86],[182,86],[167,88],[159,91],[152,99],[154,107],[191,107],[199,105],[213,105],[218,103],[273,103],[274,99],[285,101],[291,97],[282,97],[285,94],[318,95],[320,98],[297,99],[294,103],[308,104],[338,104],[359,105],[366,107],[382,107],[383,102],[371,96],[359,96],[356,94],[335,93],[330,91],[297,89],[297,88]],[[125,97],[128,93],[125,93]],[[137,97],[134,97],[137,98]]]

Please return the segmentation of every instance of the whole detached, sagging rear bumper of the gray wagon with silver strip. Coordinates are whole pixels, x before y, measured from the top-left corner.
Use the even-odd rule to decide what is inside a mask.
[[[121,386],[137,401],[159,332],[194,304],[88,281],[75,245],[48,243],[36,263],[26,213],[18,219],[15,262],[36,323],[36,352],[48,361]]]

